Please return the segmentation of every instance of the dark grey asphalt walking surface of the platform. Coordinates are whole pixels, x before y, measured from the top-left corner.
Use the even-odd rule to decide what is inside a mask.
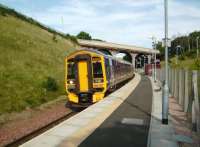
[[[147,77],[79,147],[146,147],[152,87]]]

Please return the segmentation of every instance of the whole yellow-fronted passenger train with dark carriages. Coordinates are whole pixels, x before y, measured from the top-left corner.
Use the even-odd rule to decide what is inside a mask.
[[[77,50],[65,58],[67,104],[88,107],[132,77],[133,65],[125,60],[97,50]]]

